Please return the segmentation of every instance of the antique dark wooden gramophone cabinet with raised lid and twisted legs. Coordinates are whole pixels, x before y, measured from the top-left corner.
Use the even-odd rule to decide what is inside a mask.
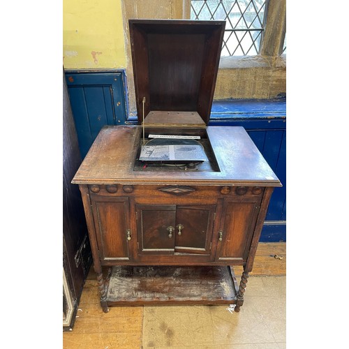
[[[208,126],[224,27],[129,20],[138,125],[103,127],[72,181],[82,193],[105,312],[144,304],[239,311],[244,303],[269,199],[281,183],[244,128]],[[205,160],[195,161],[195,147]],[[161,155],[140,160],[144,149]],[[235,265],[244,267],[239,285]]]

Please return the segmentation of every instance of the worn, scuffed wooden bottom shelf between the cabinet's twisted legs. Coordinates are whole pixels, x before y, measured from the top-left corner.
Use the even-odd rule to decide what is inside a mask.
[[[107,305],[236,304],[230,267],[112,267]]]

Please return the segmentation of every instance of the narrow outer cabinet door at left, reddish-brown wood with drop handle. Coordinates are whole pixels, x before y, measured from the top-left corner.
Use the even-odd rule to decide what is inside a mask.
[[[91,195],[91,201],[101,260],[131,260],[128,198]]]

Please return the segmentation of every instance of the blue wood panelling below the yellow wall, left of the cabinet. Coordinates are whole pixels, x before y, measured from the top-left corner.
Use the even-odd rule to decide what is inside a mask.
[[[103,126],[125,124],[125,72],[66,71],[66,82],[84,158]]]

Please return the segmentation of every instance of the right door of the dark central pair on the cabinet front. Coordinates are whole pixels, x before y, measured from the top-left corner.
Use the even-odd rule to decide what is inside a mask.
[[[178,206],[175,251],[209,254],[215,205]]]

